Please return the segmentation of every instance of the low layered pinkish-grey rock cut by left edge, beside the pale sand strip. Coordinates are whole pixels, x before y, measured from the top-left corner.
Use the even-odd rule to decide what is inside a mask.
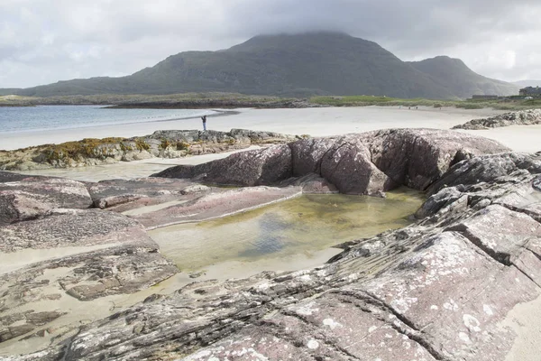
[[[37,218],[52,208],[90,208],[92,199],[84,183],[49,177],[28,177],[0,172],[0,226]]]

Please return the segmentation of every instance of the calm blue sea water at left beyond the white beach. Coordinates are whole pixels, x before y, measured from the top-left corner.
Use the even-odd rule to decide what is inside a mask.
[[[186,119],[205,109],[106,109],[104,106],[0,106],[0,133]]]

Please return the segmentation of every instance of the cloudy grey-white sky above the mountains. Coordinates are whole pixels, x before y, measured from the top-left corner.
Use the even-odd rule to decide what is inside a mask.
[[[261,33],[341,31],[402,60],[541,79],[539,0],[0,0],[0,88],[123,76]]]

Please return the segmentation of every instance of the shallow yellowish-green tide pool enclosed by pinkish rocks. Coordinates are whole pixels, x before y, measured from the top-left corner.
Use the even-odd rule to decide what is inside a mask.
[[[182,271],[226,261],[257,261],[311,253],[342,242],[408,226],[423,202],[416,190],[387,193],[387,199],[303,195],[215,220],[152,230],[161,254]]]

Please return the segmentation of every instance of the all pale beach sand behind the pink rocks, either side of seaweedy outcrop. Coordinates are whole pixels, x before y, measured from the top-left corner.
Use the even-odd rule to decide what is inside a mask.
[[[300,109],[236,109],[238,114],[208,117],[207,127],[229,131],[232,128],[271,131],[282,134],[310,134],[326,136],[361,133],[387,128],[449,129],[475,118],[495,116],[503,111],[493,109],[443,109],[419,106],[408,109],[399,106],[316,107]],[[200,129],[200,119],[154,121],[131,125],[103,125],[78,129],[40,132],[0,133],[0,148],[11,150],[44,143],[62,143],[83,138],[109,136],[140,136],[157,130]],[[541,151],[541,125],[521,125],[491,130],[461,130],[503,143],[513,151],[535,153]],[[149,159],[121,162],[112,165],[78,168],[25,171],[28,174],[69,177],[76,180],[105,180],[137,178],[162,171],[177,164],[195,164],[225,157],[229,153],[206,154],[183,159]]]

